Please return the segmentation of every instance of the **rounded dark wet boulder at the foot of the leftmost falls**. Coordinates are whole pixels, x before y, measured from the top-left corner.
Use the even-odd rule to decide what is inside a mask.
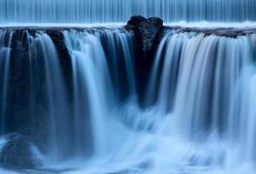
[[[43,163],[30,141],[17,133],[5,137],[0,149],[0,166],[11,169],[36,169]]]

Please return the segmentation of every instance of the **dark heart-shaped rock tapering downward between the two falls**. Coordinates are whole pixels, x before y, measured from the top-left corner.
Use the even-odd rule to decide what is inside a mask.
[[[125,26],[125,29],[132,30],[135,35],[137,57],[135,59],[135,69],[137,77],[137,89],[139,98],[144,98],[145,85],[148,82],[150,70],[154,56],[158,49],[158,44],[162,39],[164,31],[163,20],[158,17],[134,16]],[[140,102],[142,104],[142,102]]]

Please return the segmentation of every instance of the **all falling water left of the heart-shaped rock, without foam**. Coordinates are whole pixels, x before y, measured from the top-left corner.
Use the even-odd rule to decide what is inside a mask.
[[[130,32],[61,34],[71,64],[57,52],[51,31],[1,30],[0,35],[1,136],[30,137],[46,164],[112,151],[113,110],[128,96],[137,99]]]

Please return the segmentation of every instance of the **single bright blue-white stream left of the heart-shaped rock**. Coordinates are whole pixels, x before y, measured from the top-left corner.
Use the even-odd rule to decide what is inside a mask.
[[[110,72],[104,50],[98,38],[86,32],[64,31],[64,36],[71,52],[74,71],[74,111],[77,112],[75,129],[78,129],[75,131],[75,136],[78,136],[75,140],[84,141],[86,131],[83,129],[91,126],[93,151],[101,154],[107,147],[107,117],[105,116],[110,113],[108,109],[112,97]],[[88,108],[85,109],[85,106]],[[88,120],[90,123],[85,125]],[[82,142],[77,144],[80,148],[86,146]]]

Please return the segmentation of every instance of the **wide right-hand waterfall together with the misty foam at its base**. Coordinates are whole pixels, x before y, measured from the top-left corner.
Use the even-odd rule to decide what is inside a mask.
[[[84,172],[253,174],[255,44],[255,34],[168,32],[152,69],[149,105],[118,104],[121,125],[111,124],[111,135],[119,134],[119,145]]]

